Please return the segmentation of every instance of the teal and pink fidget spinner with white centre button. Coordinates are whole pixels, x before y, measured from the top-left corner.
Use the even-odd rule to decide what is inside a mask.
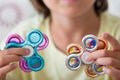
[[[27,48],[30,54],[23,56],[19,61],[20,68],[25,72],[39,71],[44,67],[44,59],[38,54],[38,50],[43,50],[48,46],[49,40],[45,34],[35,29],[26,35],[26,40],[18,34],[13,34],[6,40],[5,49],[9,48]]]

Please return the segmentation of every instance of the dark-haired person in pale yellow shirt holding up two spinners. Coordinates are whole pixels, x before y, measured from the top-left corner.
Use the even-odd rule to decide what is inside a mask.
[[[106,12],[107,0],[32,0],[32,3],[40,14],[19,24],[9,34],[17,33],[25,38],[34,28],[46,34],[49,45],[40,51],[45,67],[38,72],[25,73],[16,63],[10,63],[28,55],[29,50],[1,50],[0,80],[120,80],[120,19]],[[82,37],[87,34],[102,35],[111,47],[110,50],[94,51],[86,58],[110,66],[103,68],[105,75],[96,78],[87,76],[84,66],[71,71],[65,65],[67,45],[81,44]]]

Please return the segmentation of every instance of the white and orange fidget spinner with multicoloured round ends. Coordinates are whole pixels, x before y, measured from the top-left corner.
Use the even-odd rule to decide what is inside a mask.
[[[85,64],[85,71],[90,77],[97,77],[104,74],[103,65],[97,65],[95,61],[86,61],[87,55],[95,50],[107,49],[107,42],[103,39],[98,39],[94,35],[86,35],[82,39],[82,46],[78,44],[70,44],[67,47],[66,66],[70,70],[77,70],[82,64]]]

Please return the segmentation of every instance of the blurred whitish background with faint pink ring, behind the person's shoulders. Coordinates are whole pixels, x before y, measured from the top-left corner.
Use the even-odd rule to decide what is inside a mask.
[[[120,16],[120,0],[108,0],[113,15]],[[0,0],[0,42],[19,22],[37,14],[30,0]]]

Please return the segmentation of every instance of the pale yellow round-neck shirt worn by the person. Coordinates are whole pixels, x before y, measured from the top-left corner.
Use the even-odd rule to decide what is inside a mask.
[[[49,18],[44,19],[40,15],[21,23],[12,30],[10,34],[17,33],[25,38],[30,30],[40,29],[49,37],[49,45],[46,49],[39,51],[39,54],[45,59],[45,67],[41,71],[25,73],[18,67],[8,74],[7,80],[112,80],[107,74],[91,78],[86,75],[84,66],[81,66],[77,71],[69,70],[65,65],[67,56],[59,51],[53,43],[49,22]],[[108,13],[101,14],[101,26],[98,36],[103,32],[110,33],[120,41],[120,19]]]

